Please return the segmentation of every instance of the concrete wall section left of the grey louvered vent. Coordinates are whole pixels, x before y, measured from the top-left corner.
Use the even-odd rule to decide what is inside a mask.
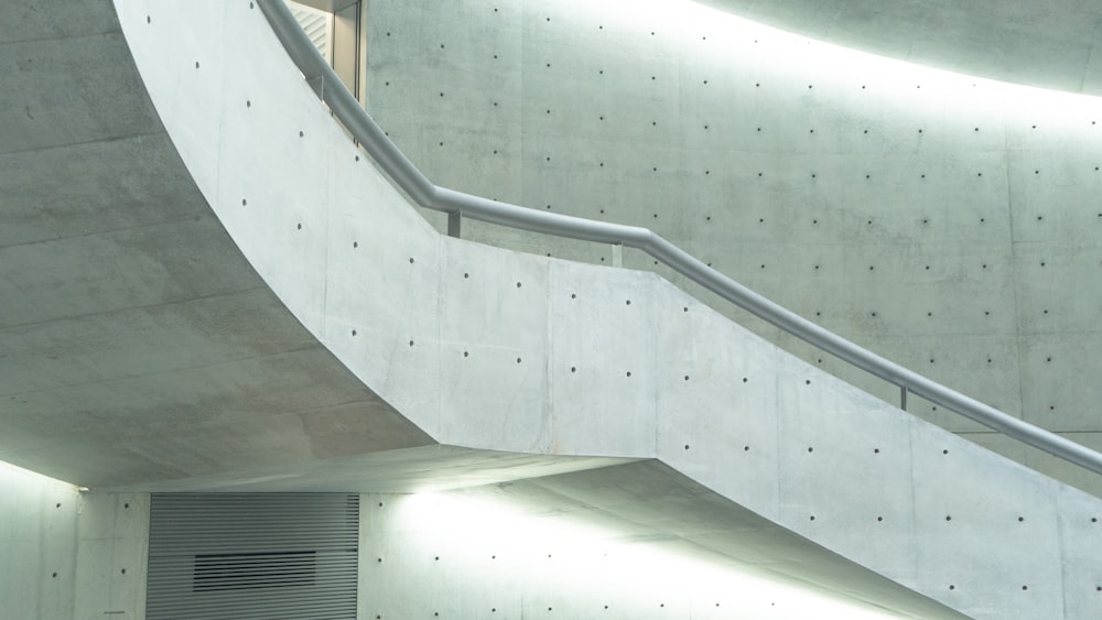
[[[149,496],[82,493],[0,463],[4,618],[144,618],[148,537]]]

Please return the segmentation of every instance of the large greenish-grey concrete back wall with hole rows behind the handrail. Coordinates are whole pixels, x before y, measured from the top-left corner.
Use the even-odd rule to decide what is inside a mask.
[[[1095,99],[846,53],[672,1],[628,13],[372,0],[367,25],[367,107],[434,183],[648,226],[876,352],[1102,448]],[[609,248],[476,222],[464,237],[613,261]],[[929,403],[910,409],[1102,492],[1096,476]]]

